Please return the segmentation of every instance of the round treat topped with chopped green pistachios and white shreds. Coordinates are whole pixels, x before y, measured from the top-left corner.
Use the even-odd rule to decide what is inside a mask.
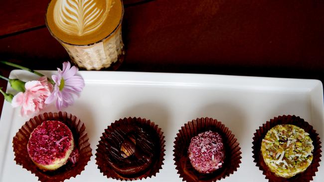
[[[313,141],[304,129],[282,124],[271,128],[261,143],[264,162],[278,177],[304,172],[313,160]]]

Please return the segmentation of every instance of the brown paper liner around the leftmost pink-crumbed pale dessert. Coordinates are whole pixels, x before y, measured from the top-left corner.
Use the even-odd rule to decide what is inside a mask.
[[[79,150],[80,157],[77,163],[72,164],[68,162],[55,171],[44,172],[38,169],[29,158],[27,144],[30,133],[38,125],[47,120],[61,121],[70,128],[73,134],[75,147]],[[80,121],[80,119],[66,112],[49,112],[35,116],[29,121],[26,121],[13,137],[14,161],[16,161],[17,165],[21,165],[27,171],[35,174],[41,182],[63,182],[71,177],[75,178],[77,175],[81,174],[92,156],[92,149],[90,148],[89,138],[85,129],[85,125]]]

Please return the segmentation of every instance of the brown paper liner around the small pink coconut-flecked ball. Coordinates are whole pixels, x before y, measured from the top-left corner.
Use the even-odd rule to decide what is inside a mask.
[[[201,174],[195,171],[188,158],[188,147],[191,138],[205,131],[218,132],[225,144],[225,161],[221,168],[211,174]],[[192,120],[181,127],[179,133],[176,134],[174,141],[174,161],[176,165],[177,174],[180,175],[182,181],[187,182],[215,182],[222,178],[230,176],[237,168],[240,167],[241,163],[241,151],[239,143],[235,138],[234,134],[225,127],[220,121],[212,118],[197,118]]]

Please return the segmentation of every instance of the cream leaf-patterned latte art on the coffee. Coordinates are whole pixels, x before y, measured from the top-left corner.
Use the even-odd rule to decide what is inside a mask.
[[[99,6],[95,0],[57,0],[53,11],[54,22],[70,35],[95,32],[107,18],[111,2],[106,0],[106,4]]]

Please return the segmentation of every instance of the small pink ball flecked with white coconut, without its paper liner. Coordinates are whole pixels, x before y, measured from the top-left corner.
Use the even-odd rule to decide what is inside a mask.
[[[225,159],[225,146],[221,135],[206,131],[191,138],[188,156],[192,167],[202,174],[221,168]]]

